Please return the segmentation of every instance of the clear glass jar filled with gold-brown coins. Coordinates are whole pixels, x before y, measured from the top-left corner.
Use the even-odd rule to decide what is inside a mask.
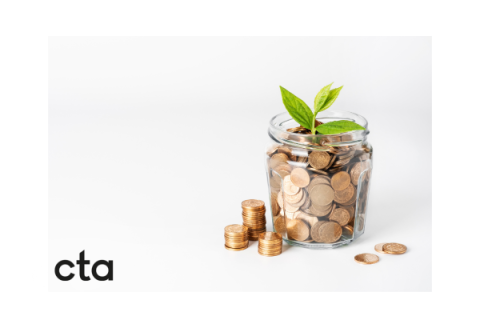
[[[265,168],[273,228],[291,245],[332,249],[365,232],[372,172],[368,123],[345,111],[317,116],[322,123],[337,120],[354,121],[366,130],[306,134],[286,112],[270,121]]]

